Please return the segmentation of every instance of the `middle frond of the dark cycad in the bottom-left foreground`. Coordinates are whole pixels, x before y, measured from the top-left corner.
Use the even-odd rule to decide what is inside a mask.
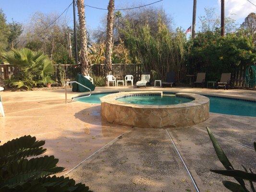
[[[57,167],[58,161],[54,156],[43,156],[12,162],[0,170],[0,183],[2,186],[15,185],[59,173],[64,168]]]

